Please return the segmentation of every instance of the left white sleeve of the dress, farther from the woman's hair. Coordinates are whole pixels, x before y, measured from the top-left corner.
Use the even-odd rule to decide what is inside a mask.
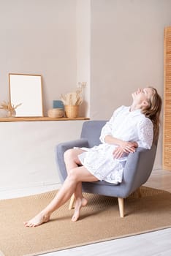
[[[107,121],[107,123],[104,125],[104,127],[102,127],[102,131],[101,131],[101,135],[99,140],[102,143],[105,143],[104,138],[106,137],[106,135],[112,135],[112,130],[113,130],[113,122],[115,120],[115,116],[118,115],[118,113],[120,112],[120,110],[123,108],[123,106],[121,106],[120,108],[117,108],[114,112],[113,112],[113,116],[110,118],[109,121]]]

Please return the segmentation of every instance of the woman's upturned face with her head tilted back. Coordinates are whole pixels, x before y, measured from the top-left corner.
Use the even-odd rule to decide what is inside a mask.
[[[153,89],[150,87],[144,89],[137,89],[132,93],[132,98],[135,103],[141,104],[142,102],[149,102],[151,96],[153,95]]]

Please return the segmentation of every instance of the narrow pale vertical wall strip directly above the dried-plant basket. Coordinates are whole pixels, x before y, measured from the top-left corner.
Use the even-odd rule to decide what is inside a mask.
[[[77,83],[85,81],[84,101],[80,105],[80,116],[90,116],[90,79],[91,79],[91,0],[77,0]]]

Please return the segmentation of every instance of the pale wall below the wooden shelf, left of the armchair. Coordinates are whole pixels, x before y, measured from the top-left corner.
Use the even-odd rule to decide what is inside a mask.
[[[76,140],[83,121],[1,122],[0,194],[59,184],[56,145]]]

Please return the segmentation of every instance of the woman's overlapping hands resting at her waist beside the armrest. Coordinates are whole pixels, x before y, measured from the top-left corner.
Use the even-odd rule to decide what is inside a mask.
[[[121,145],[115,148],[115,150],[113,151],[113,157],[121,158],[125,153],[134,153],[135,148],[137,148],[136,142],[122,141]]]

